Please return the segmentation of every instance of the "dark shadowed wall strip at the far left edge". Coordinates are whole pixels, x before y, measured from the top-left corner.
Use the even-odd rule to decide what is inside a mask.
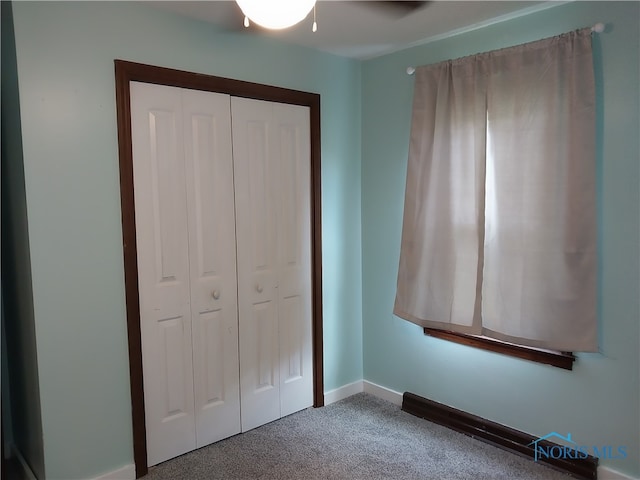
[[[15,446],[44,478],[35,318],[31,290],[16,51],[11,3],[2,2],[2,420]],[[6,345],[6,348],[5,348]],[[10,360],[10,361],[9,361]],[[4,453],[4,452],[3,452]]]

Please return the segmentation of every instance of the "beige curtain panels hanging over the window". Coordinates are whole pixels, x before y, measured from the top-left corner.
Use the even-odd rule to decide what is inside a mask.
[[[396,315],[597,350],[590,33],[416,69]]]

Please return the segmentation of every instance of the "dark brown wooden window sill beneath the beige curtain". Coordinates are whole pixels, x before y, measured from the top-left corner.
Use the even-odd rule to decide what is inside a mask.
[[[573,362],[576,360],[576,357],[571,352],[555,352],[551,350],[524,347],[522,345],[505,343],[487,337],[465,335],[462,333],[436,330],[433,328],[425,328],[424,334],[429,335],[430,337],[449,340],[450,342],[480,348],[482,350],[488,350],[490,352],[502,353],[504,355],[510,355],[512,357],[522,358],[532,362],[553,365],[554,367],[564,368],[565,370],[572,370]]]

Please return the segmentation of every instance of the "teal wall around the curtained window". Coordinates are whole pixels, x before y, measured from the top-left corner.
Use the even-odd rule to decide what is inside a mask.
[[[640,185],[638,2],[574,2],[363,63],[362,265],[364,378],[533,435],[571,432],[587,445],[625,445],[601,460],[640,475],[638,295]],[[426,65],[596,22],[599,101],[600,353],[573,371],[454,345],[392,315],[413,77]]]

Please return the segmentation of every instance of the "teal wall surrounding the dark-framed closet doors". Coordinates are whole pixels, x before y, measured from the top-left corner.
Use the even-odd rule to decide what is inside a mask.
[[[325,389],[361,379],[359,63],[144,2],[13,8],[47,478],[133,463],[116,58],[321,95]]]

